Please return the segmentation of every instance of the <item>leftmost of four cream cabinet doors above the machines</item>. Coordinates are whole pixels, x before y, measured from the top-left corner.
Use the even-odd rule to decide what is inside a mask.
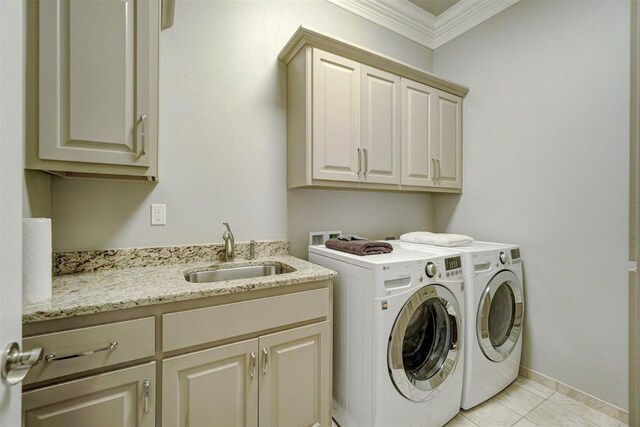
[[[359,148],[360,64],[313,49],[313,178],[358,181]]]

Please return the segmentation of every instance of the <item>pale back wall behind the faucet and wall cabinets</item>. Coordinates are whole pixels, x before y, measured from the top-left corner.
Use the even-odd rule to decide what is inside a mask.
[[[386,200],[410,206],[412,226],[431,227],[429,195],[286,190],[277,60],[301,24],[426,70],[431,50],[325,0],[176,3],[175,24],[161,34],[160,183],[53,178],[54,250],[218,242],[222,221],[237,241],[287,238],[288,206],[289,237],[302,248],[327,223],[368,232],[355,227],[363,216],[381,235],[397,233],[406,221],[378,209]],[[167,226],[149,225],[151,203],[167,204]]]

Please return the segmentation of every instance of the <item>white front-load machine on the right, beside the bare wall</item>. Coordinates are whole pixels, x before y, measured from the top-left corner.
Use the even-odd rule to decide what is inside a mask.
[[[432,246],[400,243],[410,250]],[[517,377],[522,352],[524,289],[517,245],[474,242],[457,246],[465,277],[466,346],[462,408],[496,395]]]

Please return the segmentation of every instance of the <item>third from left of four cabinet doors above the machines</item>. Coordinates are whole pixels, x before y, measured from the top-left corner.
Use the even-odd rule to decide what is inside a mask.
[[[434,186],[439,153],[434,140],[433,111],[436,89],[402,79],[403,185]]]

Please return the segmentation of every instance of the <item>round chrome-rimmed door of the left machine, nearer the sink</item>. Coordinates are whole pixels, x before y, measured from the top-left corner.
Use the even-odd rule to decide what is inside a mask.
[[[453,371],[461,339],[458,303],[439,285],[420,288],[400,310],[389,337],[391,380],[413,401],[426,400]]]

